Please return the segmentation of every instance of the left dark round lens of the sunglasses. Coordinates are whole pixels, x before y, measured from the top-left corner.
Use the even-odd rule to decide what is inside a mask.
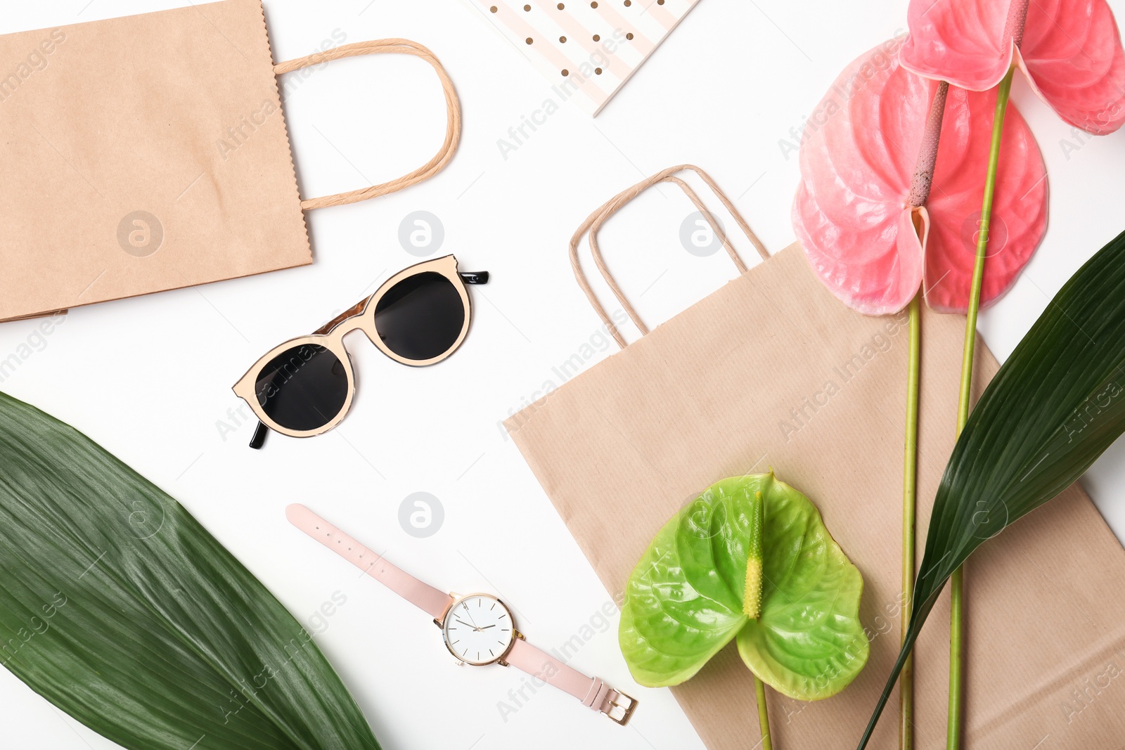
[[[288,430],[317,430],[348,400],[348,372],[331,351],[316,344],[288,349],[270,360],[254,383],[262,410]]]

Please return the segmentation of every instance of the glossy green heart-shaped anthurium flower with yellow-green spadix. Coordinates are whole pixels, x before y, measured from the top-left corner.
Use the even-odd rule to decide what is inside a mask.
[[[862,594],[860,570],[809,498],[773,472],[724,479],[665,524],[637,563],[621,651],[633,679],[660,687],[737,639],[762,681],[818,701],[867,662]]]

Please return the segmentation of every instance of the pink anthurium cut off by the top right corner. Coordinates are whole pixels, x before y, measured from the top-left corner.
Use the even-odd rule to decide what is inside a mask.
[[[1071,125],[1105,135],[1125,123],[1125,52],[1106,0],[911,0],[907,22],[909,71],[986,91],[1015,62]]]

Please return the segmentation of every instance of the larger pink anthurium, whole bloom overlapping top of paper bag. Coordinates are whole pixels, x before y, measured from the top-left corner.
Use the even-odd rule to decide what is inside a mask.
[[[925,281],[926,302],[964,313],[994,97],[950,88],[933,188],[909,200],[938,84],[903,70],[884,43],[840,73],[806,126],[792,218],[812,268],[844,304],[896,313]],[[982,304],[1012,284],[1046,231],[1046,169],[1011,108],[1004,123]]]

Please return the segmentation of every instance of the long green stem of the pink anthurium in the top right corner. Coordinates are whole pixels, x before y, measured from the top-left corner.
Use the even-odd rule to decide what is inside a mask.
[[[981,281],[984,279],[984,257],[988,251],[989,219],[992,196],[996,192],[996,171],[1000,161],[1000,138],[1004,135],[1004,116],[1011,92],[1015,66],[1000,81],[996,90],[996,114],[992,119],[992,145],[988,154],[988,173],[984,178],[984,199],[981,201],[980,229],[976,236],[976,262],[973,264],[972,288],[969,291],[969,313],[965,316],[965,351],[961,361],[961,396],[957,399],[957,435],[969,422],[969,403],[973,385],[973,349],[976,344],[976,311],[981,301]],[[964,569],[957,568],[950,579],[950,714],[945,731],[945,747],[961,747],[962,714],[964,712],[962,649],[964,633]]]

